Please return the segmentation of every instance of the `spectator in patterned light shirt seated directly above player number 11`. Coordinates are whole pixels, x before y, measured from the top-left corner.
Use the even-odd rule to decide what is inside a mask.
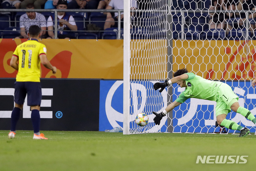
[[[34,9],[34,4],[27,4],[26,9]],[[43,14],[40,14],[38,12],[26,12],[26,14],[23,14],[20,16],[20,35],[16,38],[25,38],[28,39],[28,29],[30,26],[36,25],[41,28],[41,35],[42,38],[45,38],[46,34],[46,18]]]

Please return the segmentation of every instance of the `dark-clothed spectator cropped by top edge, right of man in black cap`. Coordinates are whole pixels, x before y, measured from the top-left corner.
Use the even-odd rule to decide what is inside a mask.
[[[97,9],[100,0],[72,0],[68,9]]]

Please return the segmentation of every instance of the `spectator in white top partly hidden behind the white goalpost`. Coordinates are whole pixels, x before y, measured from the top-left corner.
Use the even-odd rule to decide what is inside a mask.
[[[138,8],[136,0],[130,0],[131,10]],[[111,0],[106,10],[123,10],[124,9],[124,0]],[[131,13],[131,15],[133,15]],[[115,12],[114,17],[112,17],[110,12],[107,12],[107,19],[104,24],[104,30],[110,27],[118,27],[118,12]],[[124,27],[124,13],[121,13],[121,27]]]

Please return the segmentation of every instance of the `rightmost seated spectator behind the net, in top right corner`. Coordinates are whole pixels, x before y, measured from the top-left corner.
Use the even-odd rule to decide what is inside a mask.
[[[255,10],[256,9],[256,0],[235,0],[236,1],[236,10]],[[248,20],[251,21],[253,18],[256,18],[256,13],[252,14],[249,12]],[[236,12],[235,18],[228,20],[228,28],[244,28],[246,23],[246,13]],[[250,30],[254,29],[255,22],[250,23]]]

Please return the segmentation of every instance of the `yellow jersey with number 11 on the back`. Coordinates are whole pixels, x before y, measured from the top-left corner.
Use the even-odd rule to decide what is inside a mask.
[[[13,55],[17,56],[19,70],[16,76],[17,82],[40,82],[40,58],[46,54],[46,46],[37,39],[30,38],[15,49]]]

